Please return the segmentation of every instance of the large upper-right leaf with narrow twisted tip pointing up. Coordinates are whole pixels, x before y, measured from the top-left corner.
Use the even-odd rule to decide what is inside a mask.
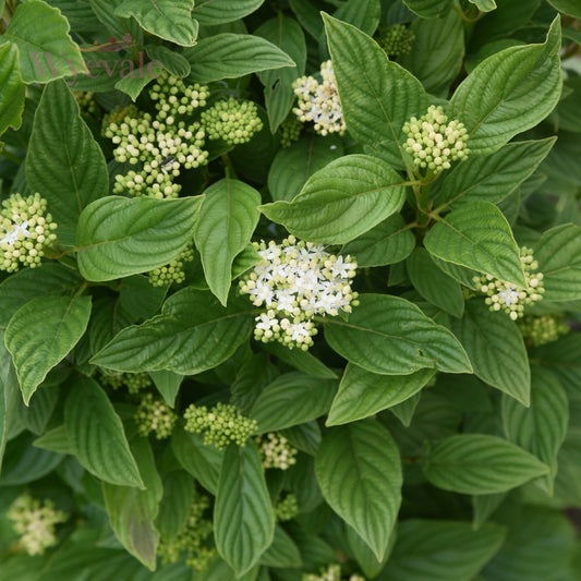
[[[561,95],[560,46],[556,17],[543,45],[500,50],[460,84],[447,114],[464,123],[470,155],[496,152],[550,113]]]

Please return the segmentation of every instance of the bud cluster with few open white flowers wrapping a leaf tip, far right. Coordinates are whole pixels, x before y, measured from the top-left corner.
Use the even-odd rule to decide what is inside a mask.
[[[533,251],[522,246],[520,261],[526,287],[498,280],[491,275],[474,277],[480,291],[487,295],[486,304],[491,306],[491,311],[504,311],[512,320],[522,317],[524,306],[540,301],[545,292],[543,274],[536,273],[538,263],[533,258]]]

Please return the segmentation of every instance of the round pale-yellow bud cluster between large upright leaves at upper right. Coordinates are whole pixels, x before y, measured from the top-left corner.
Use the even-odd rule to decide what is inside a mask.
[[[464,124],[444,114],[441,107],[431,105],[420,119],[412,117],[403,125],[406,152],[424,174],[437,174],[451,167],[451,161],[464,159],[470,153],[465,146],[468,132]]]

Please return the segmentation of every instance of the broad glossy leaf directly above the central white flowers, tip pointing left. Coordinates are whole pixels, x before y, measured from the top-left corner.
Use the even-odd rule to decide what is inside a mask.
[[[311,175],[292,202],[259,209],[298,238],[343,244],[398,211],[404,198],[402,179],[387,164],[351,155]]]

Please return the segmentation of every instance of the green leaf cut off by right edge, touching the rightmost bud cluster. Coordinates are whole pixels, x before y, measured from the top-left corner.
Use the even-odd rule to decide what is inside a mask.
[[[581,299],[581,227],[566,223],[546,230],[534,257],[544,276],[546,301]]]

